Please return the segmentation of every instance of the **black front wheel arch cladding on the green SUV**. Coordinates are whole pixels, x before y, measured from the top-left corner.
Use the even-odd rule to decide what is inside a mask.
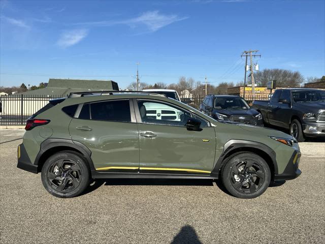
[[[229,159],[244,152],[254,153],[262,157],[270,167],[271,179],[273,180],[274,175],[278,173],[275,151],[263,143],[247,140],[230,140],[225,143],[223,152],[217,160],[211,174],[220,178],[221,168],[229,161]]]

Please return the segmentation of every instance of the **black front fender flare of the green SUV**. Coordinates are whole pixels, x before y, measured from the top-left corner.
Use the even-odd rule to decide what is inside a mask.
[[[268,154],[272,160],[272,164],[274,167],[274,174],[278,174],[278,165],[276,162],[276,154],[275,151],[272,150],[269,146],[261,143],[261,142],[256,142],[256,141],[248,141],[248,140],[229,140],[226,142],[223,146],[223,151],[222,154],[220,155],[219,159],[217,160],[211,175],[218,177],[219,171],[221,170],[223,164],[224,164],[224,159],[226,158],[227,155],[229,155],[232,151],[238,149],[238,148],[253,148],[253,149],[258,149],[264,151],[264,153]]]

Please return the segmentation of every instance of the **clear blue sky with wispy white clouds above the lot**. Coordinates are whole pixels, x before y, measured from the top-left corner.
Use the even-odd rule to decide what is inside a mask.
[[[242,81],[261,70],[325,74],[325,1],[1,0],[0,85],[51,78]]]

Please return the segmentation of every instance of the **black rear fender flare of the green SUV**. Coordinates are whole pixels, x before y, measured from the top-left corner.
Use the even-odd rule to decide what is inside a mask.
[[[77,151],[80,151],[80,153],[85,157],[85,159],[88,161],[90,170],[94,170],[93,162],[91,160],[91,151],[89,150],[88,147],[86,147],[84,144],[78,141],[73,141],[71,139],[60,139],[60,138],[48,138],[44,140],[41,143],[41,148],[36,156],[35,165],[39,165],[40,159],[46,151],[49,149],[52,149],[54,147],[59,147],[59,146],[66,146],[66,147],[72,147]]]

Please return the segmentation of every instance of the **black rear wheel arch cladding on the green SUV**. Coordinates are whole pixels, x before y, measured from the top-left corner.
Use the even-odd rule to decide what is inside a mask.
[[[87,161],[90,170],[93,170],[93,163],[91,160],[91,151],[82,143],[69,140],[69,139],[56,139],[56,138],[49,138],[46,139],[41,143],[41,148],[36,156],[35,165],[37,165],[37,171],[41,172],[42,167],[45,161],[55,153],[59,151],[74,151],[85,158]]]

